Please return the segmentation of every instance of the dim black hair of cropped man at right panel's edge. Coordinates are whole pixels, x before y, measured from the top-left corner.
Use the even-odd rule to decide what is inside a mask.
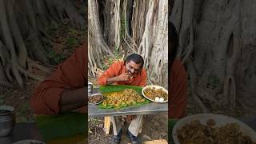
[[[178,32],[174,24],[168,21],[168,63],[169,70],[174,62],[178,50]]]

